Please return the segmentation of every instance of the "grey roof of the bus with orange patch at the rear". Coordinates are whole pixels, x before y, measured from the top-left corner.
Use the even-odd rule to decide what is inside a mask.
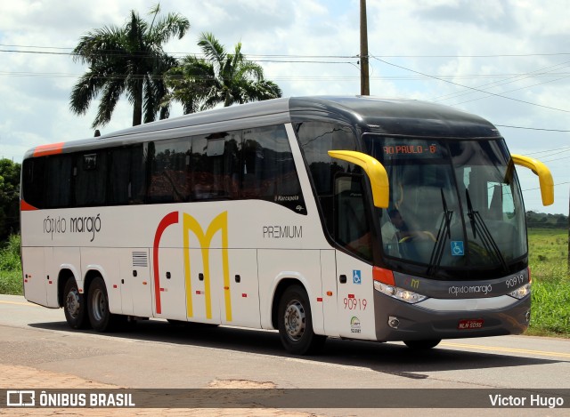
[[[82,149],[122,146],[140,140],[159,140],[216,131],[307,120],[354,124],[362,132],[393,135],[492,138],[500,134],[493,124],[455,108],[419,100],[392,100],[369,96],[291,97],[216,108],[129,127],[96,138],[31,148],[24,159]]]

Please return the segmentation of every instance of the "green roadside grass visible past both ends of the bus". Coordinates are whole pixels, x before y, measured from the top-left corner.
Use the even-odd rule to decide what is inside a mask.
[[[566,229],[529,229],[533,310],[526,334],[570,338]],[[0,249],[0,293],[22,295],[20,237]]]

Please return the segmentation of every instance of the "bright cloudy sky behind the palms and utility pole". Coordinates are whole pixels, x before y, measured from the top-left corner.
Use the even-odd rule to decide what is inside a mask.
[[[145,16],[157,0],[4,1],[0,13],[0,157],[93,136],[94,103],[69,111],[86,67],[69,52],[94,28]],[[568,0],[368,0],[371,95],[428,100],[484,116],[511,153],[541,159],[557,184],[542,207],[538,179],[519,169],[527,210],[568,213],[570,19]],[[199,52],[212,32],[265,68],[283,95],[360,92],[358,0],[162,0],[191,22],[167,52]],[[182,114],[173,109],[173,116]],[[126,100],[102,128],[132,121]]]

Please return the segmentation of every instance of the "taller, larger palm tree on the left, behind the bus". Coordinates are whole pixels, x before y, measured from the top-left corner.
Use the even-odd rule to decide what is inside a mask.
[[[81,37],[73,50],[74,60],[87,63],[89,69],[73,87],[70,108],[84,115],[101,94],[94,128],[110,122],[123,94],[133,105],[133,125],[151,122],[158,113],[161,119],[168,116],[168,108],[160,106],[167,93],[163,76],[177,61],[162,45],[173,36],[181,39],[190,22],[178,13],[157,20],[159,11],[159,4],[151,9],[150,24],[131,11],[125,27],[95,29]]]

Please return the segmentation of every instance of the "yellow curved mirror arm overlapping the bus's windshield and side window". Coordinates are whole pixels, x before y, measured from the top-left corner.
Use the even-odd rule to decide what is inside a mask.
[[[354,150],[330,150],[329,156],[360,166],[371,180],[374,205],[379,208],[388,207],[390,196],[388,175],[384,165],[376,158]]]

